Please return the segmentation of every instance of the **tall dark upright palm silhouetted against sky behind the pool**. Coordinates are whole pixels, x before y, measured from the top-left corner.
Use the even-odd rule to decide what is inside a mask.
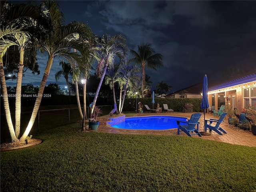
[[[130,50],[132,53],[132,58],[130,61],[140,64],[142,68],[142,98],[144,98],[144,86],[145,86],[145,67],[154,69],[163,66],[162,55],[155,53],[154,49],[149,44],[142,43],[138,46],[138,52]]]

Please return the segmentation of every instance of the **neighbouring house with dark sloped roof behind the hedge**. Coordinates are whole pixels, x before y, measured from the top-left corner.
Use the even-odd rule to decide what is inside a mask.
[[[194,84],[164,96],[165,98],[202,98],[203,83]]]

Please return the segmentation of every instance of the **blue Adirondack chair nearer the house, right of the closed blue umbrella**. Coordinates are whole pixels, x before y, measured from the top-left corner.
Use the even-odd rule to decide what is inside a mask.
[[[207,129],[210,130],[210,132],[212,130],[214,130],[215,132],[217,132],[218,134],[222,135],[222,133],[226,133],[226,131],[224,131],[221,127],[220,124],[223,122],[224,117],[226,116],[227,113],[222,113],[220,115],[219,119],[210,119],[210,120],[204,120],[204,131],[206,132]],[[209,123],[208,123],[209,121]],[[221,133],[222,132],[222,133]]]

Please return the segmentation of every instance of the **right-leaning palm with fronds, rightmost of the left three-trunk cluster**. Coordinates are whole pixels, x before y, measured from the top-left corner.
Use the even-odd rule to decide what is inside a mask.
[[[76,48],[77,42],[80,38],[90,38],[92,31],[86,24],[72,22],[66,26],[62,25],[63,14],[60,12],[58,3],[55,1],[42,1],[40,8],[44,13],[48,23],[47,33],[44,41],[40,42],[40,50],[48,53],[48,61],[38,91],[38,96],[32,111],[31,118],[28,126],[20,138],[20,141],[24,141],[28,136],[36,119],[37,112],[40,107],[44,87],[52,67],[53,59],[56,56],[64,57],[71,64],[73,72],[77,66],[83,66],[86,68],[86,64],[82,62],[82,57],[77,52],[71,52],[73,48]]]

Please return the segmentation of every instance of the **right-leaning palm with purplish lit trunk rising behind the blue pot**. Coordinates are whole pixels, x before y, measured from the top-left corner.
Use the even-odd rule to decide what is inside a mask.
[[[92,118],[96,100],[98,98],[100,87],[102,85],[107,68],[112,68],[114,66],[115,58],[117,57],[120,59],[121,63],[126,63],[128,60],[128,47],[126,45],[126,38],[121,34],[114,35],[112,37],[107,34],[106,36],[100,38],[99,43],[100,50],[98,52],[99,59],[97,74],[101,76],[101,79],[91,106],[90,118]]]

